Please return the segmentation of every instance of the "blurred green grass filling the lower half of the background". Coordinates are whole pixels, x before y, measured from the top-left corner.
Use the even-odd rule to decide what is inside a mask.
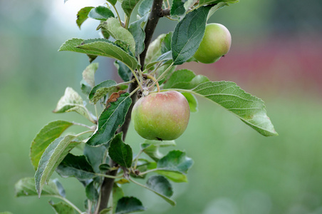
[[[76,113],[51,113],[53,98],[43,102],[21,91],[2,98],[0,210],[53,213],[49,198],[15,198],[14,183],[33,176],[28,150],[43,125],[59,118],[85,121]],[[268,98],[266,108],[278,137],[260,136],[231,113],[200,100],[199,112],[192,113],[187,131],[177,140],[177,149],[194,159],[189,183],[173,183],[177,206],[133,185],[125,185],[125,193],[141,198],[145,213],[321,213],[321,103]],[[142,141],[131,126],[127,143],[134,152]],[[73,178],[60,180],[68,198],[83,207],[81,184]]]

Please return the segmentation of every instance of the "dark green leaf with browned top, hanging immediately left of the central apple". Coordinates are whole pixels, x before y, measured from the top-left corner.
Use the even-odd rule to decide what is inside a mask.
[[[123,125],[131,103],[129,93],[113,93],[98,118],[98,128],[87,141],[88,145],[100,146],[108,143],[114,137],[115,131]]]

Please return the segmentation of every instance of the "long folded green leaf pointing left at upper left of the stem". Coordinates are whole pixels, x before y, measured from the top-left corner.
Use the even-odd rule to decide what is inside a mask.
[[[137,60],[128,52],[107,39],[83,40],[70,39],[66,41],[58,51],[73,51],[95,56],[107,56],[122,61],[129,68],[137,68]]]

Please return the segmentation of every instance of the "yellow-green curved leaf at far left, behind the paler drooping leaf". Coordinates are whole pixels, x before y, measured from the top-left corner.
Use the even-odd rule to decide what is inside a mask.
[[[41,156],[48,145],[51,144],[51,142],[53,142],[56,138],[61,136],[61,134],[72,125],[73,123],[68,121],[53,121],[41,128],[41,131],[38,132],[37,136],[31,143],[29,154],[31,164],[35,170],[37,169],[39,160],[41,159]]]

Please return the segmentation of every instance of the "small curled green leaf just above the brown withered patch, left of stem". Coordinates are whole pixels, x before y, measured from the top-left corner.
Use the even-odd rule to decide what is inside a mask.
[[[128,88],[128,86],[124,83],[116,83],[113,80],[107,80],[103,81],[102,83],[99,83],[97,86],[95,86],[92,91],[90,91],[90,94],[88,98],[91,102],[96,104],[100,98],[103,98],[108,93],[118,92],[121,90],[124,90],[125,88]]]

